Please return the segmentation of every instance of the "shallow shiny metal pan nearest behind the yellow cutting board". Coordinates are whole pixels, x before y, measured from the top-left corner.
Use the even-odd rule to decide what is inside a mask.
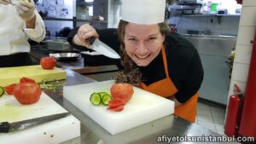
[[[55,54],[49,54],[49,56],[54,57],[56,60],[73,61],[73,60],[78,60],[80,57],[80,54],[79,53],[55,53]]]

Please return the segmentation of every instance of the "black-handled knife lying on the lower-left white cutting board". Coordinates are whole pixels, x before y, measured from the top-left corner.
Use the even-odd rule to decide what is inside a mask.
[[[70,114],[69,112],[64,112],[64,113],[53,114],[53,115],[39,117],[39,118],[22,120],[15,123],[3,122],[3,123],[0,123],[0,133],[8,133],[14,130],[24,130],[34,125],[44,124],[46,122],[53,121],[55,119],[67,117],[69,114]]]

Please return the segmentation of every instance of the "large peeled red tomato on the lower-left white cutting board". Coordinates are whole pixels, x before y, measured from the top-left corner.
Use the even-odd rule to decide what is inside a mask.
[[[28,105],[39,100],[42,90],[36,83],[24,82],[17,84],[13,93],[20,104]]]

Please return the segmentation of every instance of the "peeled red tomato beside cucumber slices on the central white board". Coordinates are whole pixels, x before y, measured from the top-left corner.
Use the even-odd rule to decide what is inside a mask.
[[[110,92],[113,99],[115,98],[124,99],[125,102],[127,102],[131,99],[131,96],[133,95],[134,90],[131,84],[118,83],[118,84],[113,84],[113,86],[110,89]]]

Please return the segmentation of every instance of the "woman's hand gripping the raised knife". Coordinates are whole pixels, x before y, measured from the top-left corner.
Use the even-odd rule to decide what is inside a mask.
[[[90,42],[86,40],[90,37],[98,38],[99,35],[95,28],[88,24],[84,24],[79,27],[78,33],[73,37],[73,43],[90,49]]]

